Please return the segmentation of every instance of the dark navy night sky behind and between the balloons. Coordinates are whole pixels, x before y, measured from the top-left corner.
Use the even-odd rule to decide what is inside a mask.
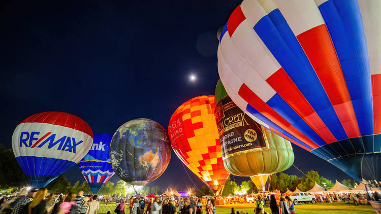
[[[168,127],[181,103],[214,94],[215,32],[240,2],[2,1],[0,142],[11,148],[18,123],[45,111],[79,116],[94,133],[113,134],[141,117]],[[197,75],[195,83],[190,74]],[[317,170],[333,182],[350,178],[297,146],[294,152],[304,172]],[[192,187],[181,165],[172,152],[165,173],[149,186]],[[302,176],[294,167],[285,172]],[[84,181],[77,165],[65,175]],[[247,179],[235,177],[238,183]]]

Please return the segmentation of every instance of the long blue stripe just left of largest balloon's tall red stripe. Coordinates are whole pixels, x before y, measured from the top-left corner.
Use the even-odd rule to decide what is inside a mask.
[[[335,138],[348,138],[311,63],[279,9],[264,16],[253,29]],[[310,132],[300,131],[306,135]],[[316,144],[321,145],[321,142]]]

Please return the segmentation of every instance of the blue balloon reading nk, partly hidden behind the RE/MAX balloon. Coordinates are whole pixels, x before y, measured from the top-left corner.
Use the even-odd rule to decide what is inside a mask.
[[[78,162],[79,170],[94,194],[115,174],[110,161],[111,138],[111,134],[94,134],[90,151]]]

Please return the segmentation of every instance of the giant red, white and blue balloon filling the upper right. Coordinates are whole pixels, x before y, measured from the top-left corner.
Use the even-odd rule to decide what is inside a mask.
[[[381,3],[244,0],[221,33],[229,96],[354,179],[380,180]]]

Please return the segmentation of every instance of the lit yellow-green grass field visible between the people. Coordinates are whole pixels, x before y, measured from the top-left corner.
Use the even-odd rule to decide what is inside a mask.
[[[107,211],[111,211],[114,213],[114,209],[116,207],[115,203],[100,203],[100,209],[98,213],[106,213]],[[235,211],[243,211],[248,212],[249,214],[253,214],[254,204],[235,204],[235,205],[220,205],[216,206],[216,214],[229,214],[230,209],[234,207]],[[307,213],[321,213],[321,214],[344,214],[344,213],[375,213],[374,209],[371,205],[358,205],[355,206],[353,204],[346,203],[315,203],[315,204],[299,204],[295,205],[296,213],[298,214],[307,214]],[[270,208],[265,207],[265,210],[270,212]],[[129,214],[129,213],[126,213]]]

